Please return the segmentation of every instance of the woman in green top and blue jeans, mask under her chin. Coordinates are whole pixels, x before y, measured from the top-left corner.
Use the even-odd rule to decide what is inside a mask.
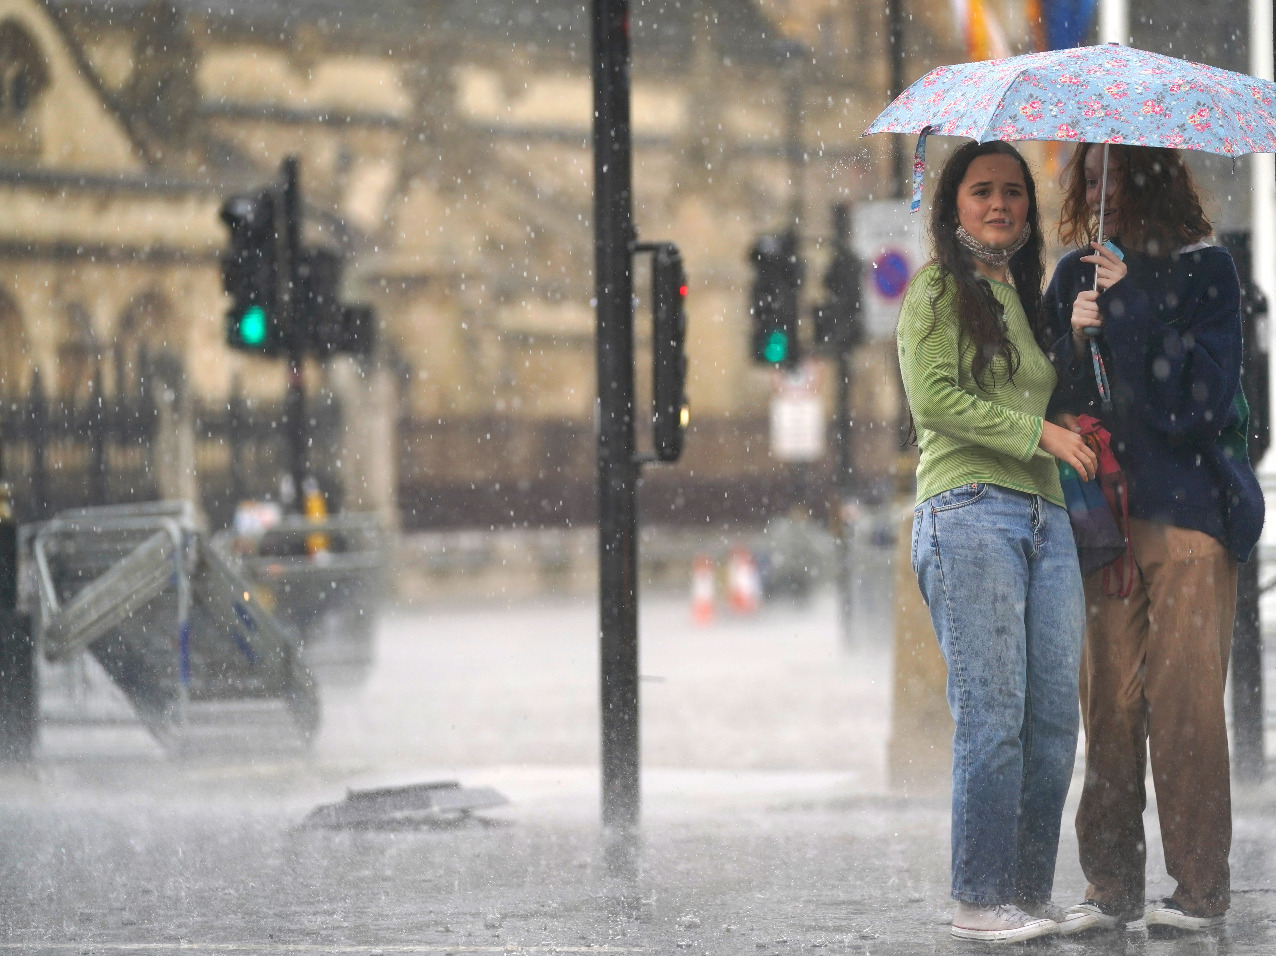
[[[900,310],[917,431],[912,567],[948,661],[953,936],[1027,939],[1074,922],[1050,900],[1077,748],[1085,605],[1057,459],[1092,477],[1081,437],[1044,420],[1041,228],[1007,143],[948,160],[934,255]],[[1078,927],[1079,928],[1079,927]]]

